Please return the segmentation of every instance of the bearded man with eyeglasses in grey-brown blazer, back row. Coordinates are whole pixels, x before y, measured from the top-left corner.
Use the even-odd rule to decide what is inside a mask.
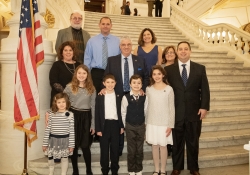
[[[70,15],[70,24],[70,27],[58,31],[55,49],[56,52],[58,52],[62,43],[65,41],[73,41],[79,52],[76,60],[82,63],[90,34],[82,29],[82,15],[79,11],[75,11]]]

